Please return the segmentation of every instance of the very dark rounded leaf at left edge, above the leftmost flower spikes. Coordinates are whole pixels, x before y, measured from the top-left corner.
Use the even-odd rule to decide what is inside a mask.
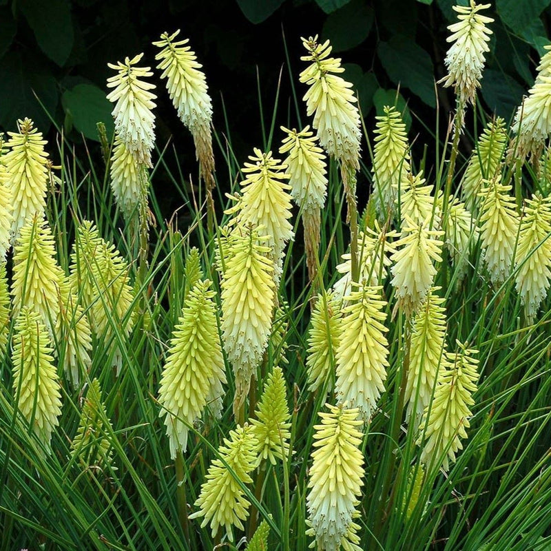
[[[37,57],[10,52],[0,60],[0,126],[5,129],[14,130],[17,119],[25,116],[32,118],[41,132],[50,128],[45,110],[54,116],[59,99],[57,85],[47,64]]]

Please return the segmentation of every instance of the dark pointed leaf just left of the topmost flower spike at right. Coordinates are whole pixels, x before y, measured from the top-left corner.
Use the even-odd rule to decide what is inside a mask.
[[[436,107],[433,61],[410,39],[399,34],[380,42],[377,54],[395,84],[408,87],[430,107]]]

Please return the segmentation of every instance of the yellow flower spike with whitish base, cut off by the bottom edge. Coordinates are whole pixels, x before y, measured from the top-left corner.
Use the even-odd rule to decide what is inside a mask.
[[[349,537],[364,482],[358,410],[326,404],[322,424],[314,426],[312,466],[306,497],[310,530],[318,550],[337,551]]]

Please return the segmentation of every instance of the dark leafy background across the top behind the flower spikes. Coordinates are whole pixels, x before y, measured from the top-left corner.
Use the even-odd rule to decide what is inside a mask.
[[[231,148],[239,162],[262,144],[259,121],[271,123],[278,90],[278,125],[306,124],[300,120],[304,108],[293,105],[293,87],[301,98],[305,90],[298,83],[304,68],[300,37],[313,34],[330,39],[335,54],[342,57],[368,129],[373,111],[382,112],[397,98],[408,125],[412,117],[422,121],[415,133],[435,132],[439,120],[445,135],[453,92],[435,87],[435,79],[445,74],[446,27],[455,21],[454,3],[0,0],[0,130],[13,130],[17,118],[29,116],[45,133],[54,132],[52,122],[63,127],[76,144],[82,136],[98,139],[98,121],[112,133],[112,106],[105,99],[105,79],[112,74],[107,63],[145,52],[143,64],[154,67],[152,41],[163,31],[181,28],[205,68],[214,127],[227,138],[231,128]],[[496,0],[484,13],[495,18],[479,95],[487,112],[508,120],[532,85],[534,67],[549,43],[550,4],[551,0]],[[163,149],[171,138],[176,145],[184,142],[178,154],[189,152],[189,159],[183,153],[182,160],[191,165],[191,137],[180,126],[158,76],[158,147]],[[184,173],[186,169],[190,170],[185,167]]]

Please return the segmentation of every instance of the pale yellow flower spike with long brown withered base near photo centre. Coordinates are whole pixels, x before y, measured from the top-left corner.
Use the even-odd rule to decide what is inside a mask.
[[[326,157],[309,126],[302,132],[281,129],[287,132],[287,138],[283,140],[280,153],[289,153],[285,163],[290,176],[291,197],[302,209],[306,265],[313,281],[318,273],[321,209],[327,195]]]

